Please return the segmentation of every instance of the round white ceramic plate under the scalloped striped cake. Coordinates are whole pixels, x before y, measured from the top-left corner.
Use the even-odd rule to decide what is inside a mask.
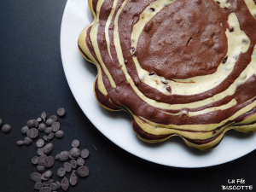
[[[93,16],[87,0],[68,0],[61,24],[61,58],[67,82],[80,108],[93,125],[120,148],[165,166],[204,167],[236,160],[253,151],[256,134],[229,131],[222,143],[212,151],[203,152],[186,146],[181,138],[171,137],[164,143],[148,144],[140,141],[125,112],[110,112],[102,108],[93,93],[96,67],[79,54],[77,39]]]

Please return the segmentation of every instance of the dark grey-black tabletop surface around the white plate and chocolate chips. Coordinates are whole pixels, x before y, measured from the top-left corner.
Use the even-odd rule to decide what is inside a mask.
[[[13,127],[9,134],[0,131],[1,192],[36,191],[29,177],[36,172],[31,163],[37,155],[35,142],[18,147],[16,141],[24,138],[20,129],[28,119],[36,119],[43,111],[48,116],[55,114],[60,107],[67,110],[60,119],[66,135],[53,140],[52,155],[69,150],[74,138],[80,140],[81,148],[90,150],[85,163],[90,176],[79,177],[79,183],[68,191],[222,191],[221,185],[237,178],[244,178],[244,185],[256,190],[255,151],[219,166],[167,167],[127,153],[97,131],[73,98],[61,64],[60,30],[66,3],[0,0],[0,119]],[[55,162],[53,172],[61,165]],[[54,178],[61,181],[56,174]]]

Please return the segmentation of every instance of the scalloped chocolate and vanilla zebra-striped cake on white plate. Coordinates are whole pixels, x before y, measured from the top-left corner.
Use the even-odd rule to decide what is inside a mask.
[[[209,150],[256,131],[255,0],[89,0],[79,35],[96,100],[125,110],[137,137]]]

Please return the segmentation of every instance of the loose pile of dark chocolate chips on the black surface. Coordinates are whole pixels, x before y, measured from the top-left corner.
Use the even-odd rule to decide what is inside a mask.
[[[64,108],[59,108],[57,113],[59,116],[64,116],[66,112]],[[57,120],[55,115],[51,115],[49,119],[46,119],[45,112],[43,112],[38,119],[28,120],[26,126],[21,129],[21,132],[26,134],[26,137],[24,140],[17,142],[17,145],[19,146],[23,144],[30,145],[33,141],[32,139],[38,137],[39,131],[45,133],[43,137],[44,139],[38,139],[36,143],[39,156],[32,157],[32,164],[37,165],[38,172],[32,172],[30,176],[31,179],[36,182],[34,188],[38,189],[39,192],[55,192],[57,189],[61,188],[66,191],[69,187],[69,183],[75,185],[78,182],[78,177],[75,174],[77,165],[79,165],[79,168],[77,169],[79,176],[85,177],[89,175],[88,167],[84,166],[84,158],[89,156],[89,150],[84,148],[80,151],[78,148],[79,140],[73,141],[73,148],[70,151],[63,151],[60,154],[57,154],[55,158],[48,156],[54,147],[53,143],[49,143],[49,141],[54,137],[62,138],[64,136],[64,132],[60,130],[61,125]],[[55,159],[67,161],[69,158],[72,160],[70,163],[64,163],[64,168],[62,168],[64,171],[61,168],[57,171],[59,177],[64,177],[61,183],[51,179],[52,172],[50,170],[46,171],[45,169],[52,167],[55,164]],[[71,172],[72,169],[73,172],[68,181],[65,174],[66,172]]]

